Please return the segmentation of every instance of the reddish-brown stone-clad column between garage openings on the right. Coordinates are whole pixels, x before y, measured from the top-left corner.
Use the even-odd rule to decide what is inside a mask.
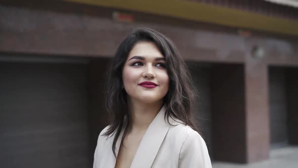
[[[262,60],[245,64],[245,123],[247,162],[267,159],[270,149],[268,68]]]

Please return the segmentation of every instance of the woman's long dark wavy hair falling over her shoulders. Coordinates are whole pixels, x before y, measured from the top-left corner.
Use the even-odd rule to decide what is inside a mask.
[[[115,134],[112,147],[115,157],[117,157],[115,146],[120,132],[125,127],[121,140],[122,145],[131,123],[126,100],[127,93],[123,87],[122,70],[129,52],[140,41],[154,43],[166,59],[166,69],[170,81],[168,93],[163,99],[163,105],[166,108],[165,120],[168,123],[169,117],[181,120],[197,131],[191,117],[196,91],[186,64],[175,45],[168,37],[156,30],[144,27],[135,28],[118,47],[106,83],[106,108],[112,114],[112,122],[104,136]],[[124,125],[125,116],[127,118],[126,125]]]

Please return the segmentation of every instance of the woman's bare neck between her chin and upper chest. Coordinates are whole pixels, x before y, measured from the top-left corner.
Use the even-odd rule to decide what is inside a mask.
[[[163,100],[154,103],[142,103],[128,99],[128,110],[131,114],[129,132],[145,132],[162,108]]]

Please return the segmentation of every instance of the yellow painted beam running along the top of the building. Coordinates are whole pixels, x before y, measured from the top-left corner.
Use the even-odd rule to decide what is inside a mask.
[[[298,21],[185,0],[65,0],[230,27],[298,35]]]

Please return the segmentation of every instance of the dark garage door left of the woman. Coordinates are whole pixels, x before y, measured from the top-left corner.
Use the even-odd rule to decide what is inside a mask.
[[[1,167],[90,167],[87,65],[0,62]]]

